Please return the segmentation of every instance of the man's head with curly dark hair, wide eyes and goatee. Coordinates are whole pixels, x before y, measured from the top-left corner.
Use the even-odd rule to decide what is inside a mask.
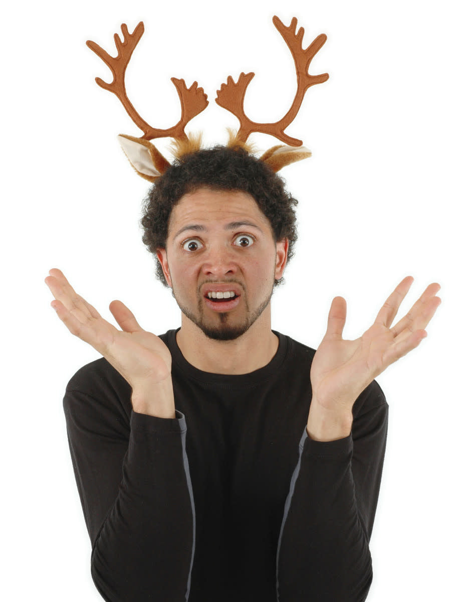
[[[268,305],[297,240],[293,205],[282,179],[242,148],[185,155],[153,185],[143,242],[157,278],[209,337],[240,336]],[[214,284],[236,289],[236,308],[211,309],[205,292]]]

